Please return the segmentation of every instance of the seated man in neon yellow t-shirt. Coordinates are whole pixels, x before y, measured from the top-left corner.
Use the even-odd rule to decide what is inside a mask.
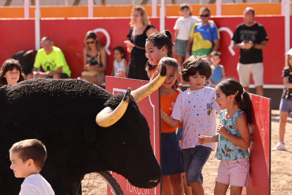
[[[71,71],[65,60],[65,56],[60,48],[53,46],[50,38],[43,37],[41,40],[42,49],[37,51],[35,56],[35,64],[32,68],[32,74],[28,74],[27,78],[50,77],[53,79],[68,79]],[[45,72],[37,71],[42,66]]]

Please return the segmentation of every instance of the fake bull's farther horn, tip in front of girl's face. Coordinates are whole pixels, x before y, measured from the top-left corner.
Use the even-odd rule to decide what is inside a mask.
[[[152,92],[157,90],[163,84],[165,78],[166,66],[165,64],[162,64],[160,74],[155,79],[153,79],[150,83],[147,83],[146,85],[132,92],[132,96],[134,97],[136,103],[140,102],[142,99],[146,98]]]

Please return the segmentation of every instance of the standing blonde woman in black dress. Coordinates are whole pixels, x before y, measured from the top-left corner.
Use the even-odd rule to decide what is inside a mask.
[[[153,33],[157,32],[154,26],[149,25],[149,19],[146,11],[141,6],[132,8],[130,30],[128,38],[131,43],[127,43],[127,51],[131,53],[129,61],[128,78],[147,80],[145,64],[148,58],[145,56],[146,39]]]

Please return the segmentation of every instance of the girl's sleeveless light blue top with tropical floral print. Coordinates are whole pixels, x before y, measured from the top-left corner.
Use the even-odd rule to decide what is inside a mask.
[[[220,124],[224,125],[230,134],[236,137],[240,137],[239,131],[236,129],[235,124],[239,114],[244,113],[244,111],[239,109],[228,120],[224,118],[226,111],[227,109],[225,109],[220,115]],[[237,146],[219,134],[215,157],[218,160],[237,160],[250,157],[250,153],[248,152],[247,148]]]

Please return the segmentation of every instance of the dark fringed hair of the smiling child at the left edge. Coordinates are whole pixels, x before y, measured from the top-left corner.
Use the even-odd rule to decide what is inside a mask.
[[[6,72],[12,71],[14,68],[16,68],[19,71],[19,79],[17,82],[19,83],[21,81],[24,81],[24,76],[23,76],[19,61],[10,58],[10,59],[6,60],[1,67],[1,71],[0,71],[0,85],[1,86],[7,85],[7,80],[4,76],[5,76]]]

